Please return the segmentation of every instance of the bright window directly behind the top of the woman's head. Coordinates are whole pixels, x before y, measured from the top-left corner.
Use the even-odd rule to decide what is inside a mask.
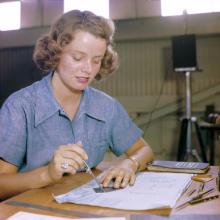
[[[64,0],[64,12],[78,9],[109,18],[109,0]]]

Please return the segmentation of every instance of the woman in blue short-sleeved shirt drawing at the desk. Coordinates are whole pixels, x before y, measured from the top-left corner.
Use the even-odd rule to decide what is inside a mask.
[[[34,61],[47,74],[12,94],[0,111],[0,198],[56,183],[97,166],[108,148],[127,158],[101,180],[107,187],[134,184],[135,172],[153,158],[141,130],[123,107],[89,87],[117,68],[112,21],[70,11],[35,47]]]

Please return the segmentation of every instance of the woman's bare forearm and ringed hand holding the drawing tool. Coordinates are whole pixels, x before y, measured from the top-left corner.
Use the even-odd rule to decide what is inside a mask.
[[[18,173],[15,165],[0,159],[0,200],[56,183],[62,179],[64,173],[76,174],[79,168],[84,167],[83,160],[87,159],[80,142],[61,145],[47,166],[29,172]],[[62,166],[64,162],[67,167]]]

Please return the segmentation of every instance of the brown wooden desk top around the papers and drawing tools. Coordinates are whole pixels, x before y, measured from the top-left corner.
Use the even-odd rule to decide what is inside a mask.
[[[98,173],[98,171],[95,171]],[[215,175],[218,172],[218,167],[211,167],[210,173]],[[85,206],[76,204],[58,204],[54,201],[52,194],[62,194],[68,192],[70,189],[82,185],[90,180],[90,176],[86,173],[78,173],[76,176],[65,176],[62,182],[47,186],[41,189],[33,189],[27,192],[14,196],[4,202],[0,203],[0,219],[6,219],[18,211],[26,211],[39,214],[47,214],[52,216],[76,218],[76,217],[108,217],[108,216],[124,216],[128,220],[134,220],[134,214],[138,214],[138,219],[147,219],[146,215],[157,215],[155,219],[160,216],[174,216],[174,215],[219,215],[220,218],[220,198],[200,203],[197,205],[187,206],[184,209],[173,210],[158,209],[158,210],[143,210],[143,211],[125,211],[110,208],[102,208],[95,206]],[[198,183],[193,182],[188,190],[198,187]],[[206,183],[205,187],[216,186],[215,180]],[[188,191],[187,190],[187,191]],[[180,198],[177,205],[184,200],[184,195]],[[141,217],[141,218],[140,218]],[[137,219],[137,218],[136,218]],[[182,219],[182,218],[181,218]]]

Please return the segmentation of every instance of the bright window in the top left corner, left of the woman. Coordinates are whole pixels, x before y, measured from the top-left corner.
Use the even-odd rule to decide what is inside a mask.
[[[21,2],[0,3],[0,30],[16,30],[21,26]]]

